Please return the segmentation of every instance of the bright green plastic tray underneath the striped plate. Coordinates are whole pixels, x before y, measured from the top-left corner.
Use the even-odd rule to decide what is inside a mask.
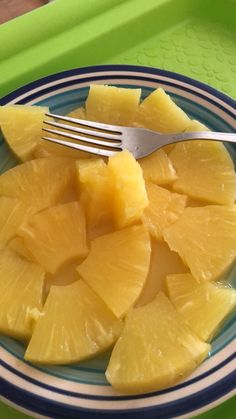
[[[56,0],[0,27],[0,97],[51,73],[139,64],[236,98],[235,0]],[[235,399],[201,415],[232,419]],[[0,405],[1,419],[23,419]]]

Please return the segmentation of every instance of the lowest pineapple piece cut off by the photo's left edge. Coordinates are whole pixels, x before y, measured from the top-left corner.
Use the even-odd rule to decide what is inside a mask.
[[[7,248],[0,251],[0,272],[0,332],[29,339],[31,313],[42,309],[45,273]]]

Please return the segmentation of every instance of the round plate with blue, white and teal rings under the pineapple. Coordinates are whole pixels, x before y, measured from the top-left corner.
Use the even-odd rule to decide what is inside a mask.
[[[218,131],[236,130],[233,99],[187,77],[148,67],[109,65],[66,71],[30,83],[0,100],[37,104],[65,114],[81,106],[91,83],[142,87],[146,96],[163,87],[191,118]],[[234,155],[233,148],[231,149]],[[0,170],[15,164],[2,142]],[[235,285],[235,271],[229,280]],[[0,337],[0,393],[3,400],[37,417],[173,418],[197,415],[229,398],[235,387],[235,317],[215,338],[211,356],[175,387],[138,396],[122,396],[106,382],[108,357],[66,367],[36,367],[23,360],[23,346]]]

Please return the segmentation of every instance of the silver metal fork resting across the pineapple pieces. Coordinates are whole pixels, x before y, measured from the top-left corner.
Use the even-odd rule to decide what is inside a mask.
[[[46,120],[44,121],[45,124],[56,129],[43,128],[44,131],[79,141],[79,143],[51,137],[42,137],[43,140],[105,157],[112,156],[122,150],[129,150],[136,159],[140,159],[167,144],[187,140],[204,139],[236,143],[236,134],[228,132],[201,131],[161,134],[143,128],[108,125],[52,113],[46,113],[46,116],[73,123],[75,126]],[[60,129],[63,131],[60,131]]]

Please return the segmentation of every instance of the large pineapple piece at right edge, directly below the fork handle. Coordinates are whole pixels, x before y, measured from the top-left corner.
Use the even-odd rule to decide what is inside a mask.
[[[222,143],[185,141],[169,157],[177,171],[174,190],[210,203],[232,205],[236,199],[234,163]]]

